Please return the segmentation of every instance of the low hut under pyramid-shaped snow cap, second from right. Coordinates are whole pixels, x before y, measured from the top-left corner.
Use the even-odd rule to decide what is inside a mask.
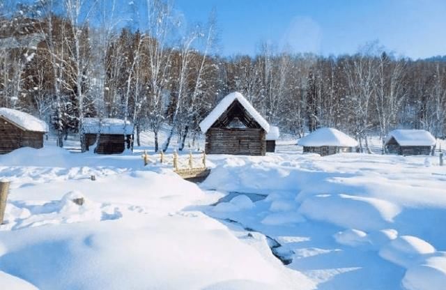
[[[303,153],[318,153],[325,156],[354,152],[357,141],[339,130],[320,128],[301,138],[298,145],[303,146]]]

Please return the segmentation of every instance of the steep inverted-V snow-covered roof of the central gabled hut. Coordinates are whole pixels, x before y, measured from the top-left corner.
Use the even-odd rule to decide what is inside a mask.
[[[201,121],[200,128],[201,132],[206,133],[206,131],[209,130],[210,126],[215,123],[215,121],[222,116],[224,112],[226,112],[226,109],[229,108],[229,106],[232,104],[234,100],[238,100],[240,102],[240,105],[242,105],[249,115],[256,120],[259,125],[261,125],[261,128],[266,130],[266,132],[269,132],[270,130],[270,124],[263,119],[263,117],[259,114],[259,112],[252,107],[252,105],[248,102],[248,100],[245,99],[245,97],[239,93],[238,91],[230,93],[228,96],[224,97],[218,104],[215,106],[215,108],[206,116],[206,118]]]

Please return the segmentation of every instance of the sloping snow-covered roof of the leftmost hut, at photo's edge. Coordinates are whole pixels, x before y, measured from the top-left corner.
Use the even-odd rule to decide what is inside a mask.
[[[0,116],[26,131],[48,132],[44,121],[17,109],[0,108]]]

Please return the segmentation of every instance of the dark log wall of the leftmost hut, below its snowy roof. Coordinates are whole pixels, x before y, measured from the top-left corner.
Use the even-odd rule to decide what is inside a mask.
[[[42,148],[44,132],[25,131],[0,117],[0,154],[22,148]]]

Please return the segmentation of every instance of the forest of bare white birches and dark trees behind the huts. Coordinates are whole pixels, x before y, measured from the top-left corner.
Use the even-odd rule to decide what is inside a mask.
[[[0,3],[0,107],[45,119],[59,146],[98,116],[132,121],[137,143],[152,131],[155,151],[176,134],[181,150],[231,91],[282,132],[330,126],[354,135],[361,151],[368,136],[394,128],[446,135],[442,57],[413,61],[378,43],[330,57],[262,43],[256,56],[223,57],[215,15],[184,27],[164,0],[132,1],[126,13],[115,0]],[[164,124],[171,132],[161,140]]]

